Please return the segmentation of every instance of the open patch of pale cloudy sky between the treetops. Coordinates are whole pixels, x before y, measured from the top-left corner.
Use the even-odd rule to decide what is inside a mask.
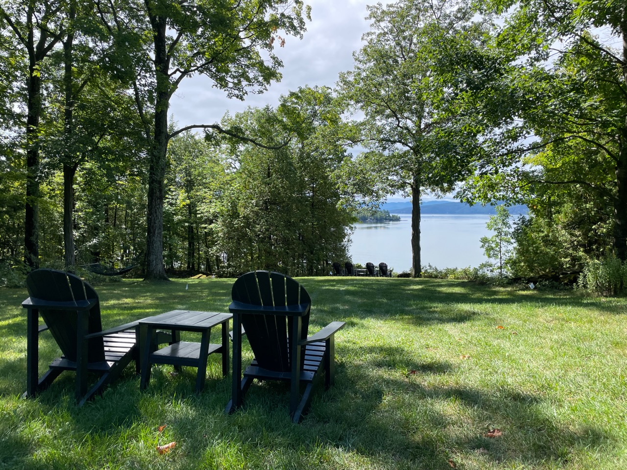
[[[376,0],[310,0],[312,21],[303,39],[288,36],[285,47],[276,48],[283,61],[283,79],[263,95],[249,95],[245,102],[229,100],[213,88],[208,78],[194,76],[182,81],[172,97],[170,112],[179,127],[219,122],[224,113],[246,107],[278,105],[280,95],[298,86],[334,86],[340,71],[351,70],[352,52],[361,48],[361,36],[369,28],[366,5]]]

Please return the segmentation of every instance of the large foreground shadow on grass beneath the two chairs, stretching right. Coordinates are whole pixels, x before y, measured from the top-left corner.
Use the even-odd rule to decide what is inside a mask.
[[[139,392],[136,380],[124,379],[81,409],[68,403],[71,384],[66,384],[63,393],[67,400],[60,400],[58,392],[45,394],[31,408],[36,416],[58,415],[54,422],[69,420],[70,436],[78,441],[91,436],[96,441],[117,442],[120,436],[138,432],[131,431],[134,427],[147,423],[154,427],[157,439],[156,427],[167,424],[169,436],[186,449],[177,456],[177,468],[198,466],[208,446],[216,442],[237,449],[251,468],[267,465],[265,459],[270,456],[277,459],[274,464],[285,468],[340,468],[345,462],[329,463],[340,458],[377,468],[445,470],[450,468],[448,459],[457,464],[467,459],[477,467],[548,468],[547,462],[565,464],[572,452],[600,448],[612,439],[593,427],[556,422],[545,411],[551,406],[541,397],[519,390],[501,387],[490,392],[463,385],[425,385],[430,376],[451,372],[448,363],[421,364],[403,357],[397,348],[371,348],[370,353],[374,368],[352,367],[340,359],[335,386],[324,390],[319,384],[310,414],[298,425],[292,424],[288,415],[287,384],[255,382],[243,408],[224,415],[230,377],[208,380],[203,394],[195,395],[192,373],[183,374],[180,380],[167,375],[159,379],[155,374],[156,380],[146,392]],[[386,354],[400,354],[394,367],[411,367],[416,373],[406,375],[398,368],[389,373],[390,363],[376,365],[375,357]],[[382,369],[387,373],[382,375]],[[175,396],[180,411],[169,414]],[[161,408],[152,410],[156,404]],[[500,427],[503,436],[486,437],[492,426]],[[16,449],[11,463],[32,466],[33,442],[19,433],[7,438]],[[109,458],[113,461],[117,456]],[[314,458],[320,461],[310,460]]]

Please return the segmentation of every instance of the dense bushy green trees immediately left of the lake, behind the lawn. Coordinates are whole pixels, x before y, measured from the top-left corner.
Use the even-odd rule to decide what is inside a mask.
[[[354,219],[335,184],[345,155],[329,146],[334,122],[339,112],[326,88],[301,88],[276,110],[224,118],[225,127],[237,126],[268,148],[223,140],[221,155],[232,165],[214,229],[223,273],[323,274],[329,260],[345,258]]]

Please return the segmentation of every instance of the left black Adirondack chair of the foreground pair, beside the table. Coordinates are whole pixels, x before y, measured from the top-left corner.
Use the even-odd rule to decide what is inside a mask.
[[[79,406],[97,394],[135,359],[134,327],[137,322],[102,331],[100,303],[92,286],[74,274],[53,269],[37,269],[26,278],[28,309],[27,379],[24,397],[45,390],[64,370],[76,372],[76,401]],[[45,325],[39,326],[39,315]],[[61,353],[48,372],[38,378],[39,333],[50,330]],[[88,372],[100,379],[88,390]]]

